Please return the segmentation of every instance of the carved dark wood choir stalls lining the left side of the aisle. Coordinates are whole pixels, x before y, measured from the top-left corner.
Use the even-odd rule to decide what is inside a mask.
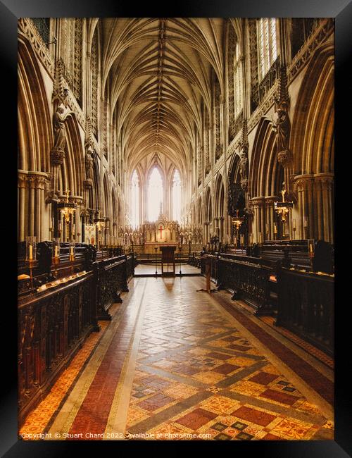
[[[22,246],[19,254],[21,255]],[[39,246],[32,285],[21,280],[18,294],[19,423],[50,390],[54,381],[92,331],[98,320],[111,319],[108,309],[122,302],[121,292],[134,275],[132,254],[95,260],[93,247],[77,244],[75,268],[68,247],[61,246],[61,263],[52,275],[51,245]],[[22,253],[23,254],[23,253]],[[82,273],[82,268],[90,268]],[[18,271],[26,273],[23,256]],[[71,274],[71,276],[70,276]],[[64,275],[68,275],[63,278]]]

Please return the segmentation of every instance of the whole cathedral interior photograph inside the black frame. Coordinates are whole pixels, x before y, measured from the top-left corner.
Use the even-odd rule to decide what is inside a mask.
[[[18,435],[334,440],[334,20],[18,20]]]

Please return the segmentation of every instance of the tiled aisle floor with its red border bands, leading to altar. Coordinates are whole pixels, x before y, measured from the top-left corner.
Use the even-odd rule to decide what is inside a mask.
[[[332,373],[296,347],[282,362],[284,338],[246,311],[234,318],[230,295],[196,292],[203,283],[134,278],[48,431],[61,440],[333,439]]]

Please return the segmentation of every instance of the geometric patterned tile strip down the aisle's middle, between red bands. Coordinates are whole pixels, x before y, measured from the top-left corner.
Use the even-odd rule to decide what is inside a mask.
[[[319,409],[205,293],[191,294],[184,279],[182,288],[172,279],[163,283],[175,295],[170,302],[170,287],[158,289],[146,307],[127,414],[130,439],[141,433],[161,440],[334,438]]]

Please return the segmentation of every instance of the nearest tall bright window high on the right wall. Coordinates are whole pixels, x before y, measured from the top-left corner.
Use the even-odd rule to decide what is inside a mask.
[[[277,59],[276,18],[258,20],[258,70],[263,80]]]

